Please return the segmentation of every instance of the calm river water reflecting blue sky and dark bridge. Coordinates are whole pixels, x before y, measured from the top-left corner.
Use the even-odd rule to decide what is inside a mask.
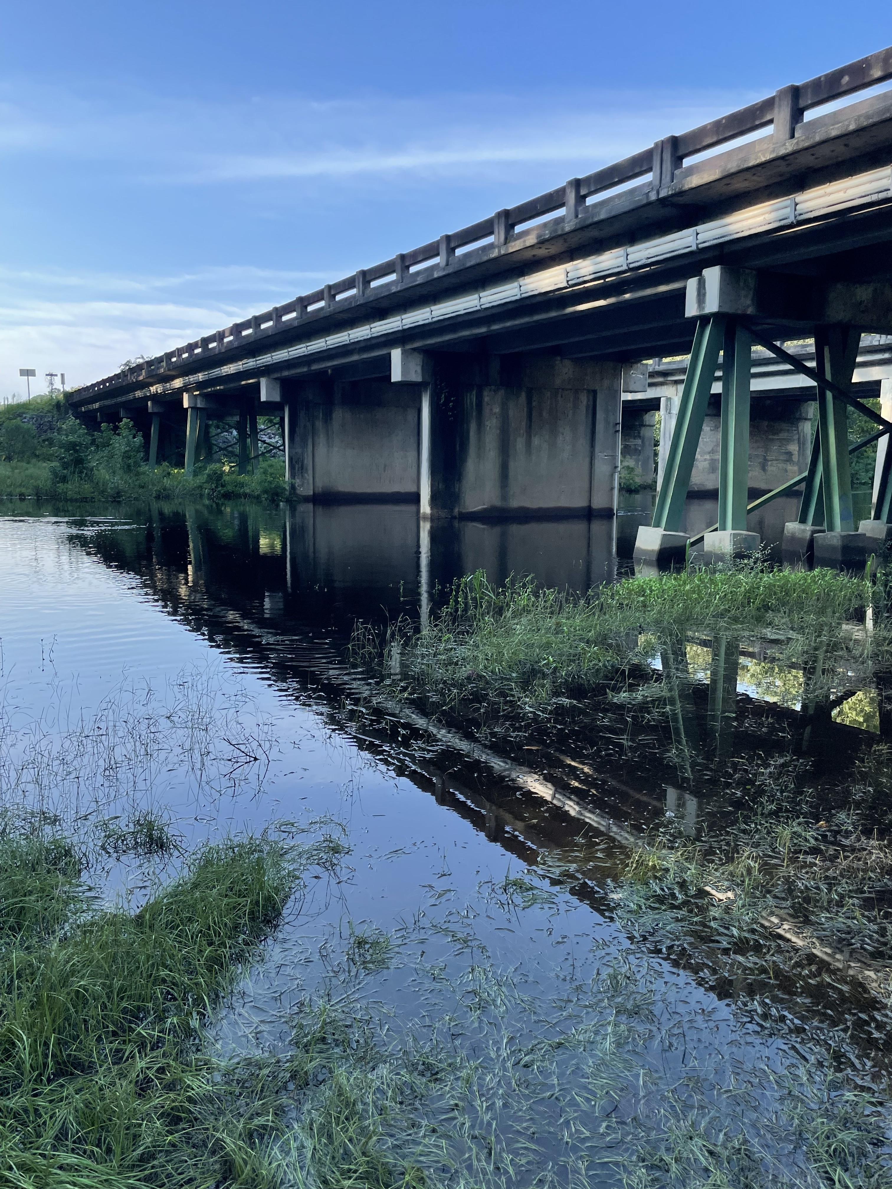
[[[646,515],[627,504],[616,526],[431,530],[406,505],[17,505],[0,518],[5,804],[75,832],[147,806],[187,850],[343,830],[340,870],[307,881],[216,1037],[283,1045],[302,1005],[327,1001],[373,1021],[388,1059],[435,1052],[442,1095],[470,1103],[460,1125],[436,1095],[423,1108],[442,1114],[450,1184],[831,1184],[791,1139],[797,1111],[833,1105],[837,1071],[884,1101],[885,1008],[814,963],[771,983],[729,977],[722,945],[677,961],[615,911],[613,881],[667,817],[691,838],[721,829],[737,762],[805,756],[844,809],[854,759],[885,747],[875,691],[816,728],[802,674],[741,648],[728,729],[706,705],[710,642],[693,641],[671,731],[633,737],[620,712],[480,748],[427,730],[345,659],[357,618],[417,622],[478,567],[611,580]],[[691,516],[704,528],[711,510]],[[138,904],[175,867],[120,858],[93,877]],[[692,1144],[716,1168],[723,1145],[742,1153],[737,1172],[689,1176]],[[653,1159],[680,1179],[646,1172]]]

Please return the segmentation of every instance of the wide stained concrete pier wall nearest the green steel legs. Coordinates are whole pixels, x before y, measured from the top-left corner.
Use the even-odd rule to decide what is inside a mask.
[[[421,356],[391,380],[419,391],[422,517],[613,516],[622,367],[557,356]]]

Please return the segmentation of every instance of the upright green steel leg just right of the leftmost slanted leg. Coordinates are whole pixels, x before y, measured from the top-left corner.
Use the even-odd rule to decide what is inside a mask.
[[[722,427],[718,455],[718,530],[746,531],[749,495],[749,371],[752,339],[729,320],[722,352]]]

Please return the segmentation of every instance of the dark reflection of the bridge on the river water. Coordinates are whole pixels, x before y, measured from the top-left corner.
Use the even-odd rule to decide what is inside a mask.
[[[457,794],[453,807],[503,844],[513,838],[536,849],[569,845],[584,823],[626,847],[664,809],[693,830],[721,793],[729,760],[753,751],[821,755],[824,769],[848,773],[853,755],[878,737],[847,725],[838,712],[835,721],[834,710],[859,688],[875,715],[872,731],[892,736],[892,688],[861,668],[856,649],[842,658],[818,649],[803,668],[783,667],[779,698],[781,667],[771,671],[772,646],[716,634],[664,642],[648,702],[657,717],[593,699],[593,718],[583,716],[574,726],[571,715],[560,730],[541,734],[533,726],[520,742],[544,747],[519,748],[516,738],[504,737],[509,754],[498,754],[426,718],[345,661],[353,618],[377,612],[395,619],[404,608],[403,587],[414,602],[425,581],[417,574],[417,514],[378,510],[387,523],[376,547],[372,511],[362,509],[354,523],[348,509],[327,507],[158,509],[145,530],[93,537],[90,547],[138,573],[170,615],[215,647],[259,665],[276,685],[329,713],[360,749],[371,743],[410,779],[432,778],[438,798]],[[464,530],[454,523],[441,528],[457,540]],[[484,530],[496,551],[503,528]],[[536,554],[551,529],[535,526]],[[527,551],[529,559],[529,542]],[[343,618],[333,614],[337,603]],[[754,665],[765,671],[761,687]]]

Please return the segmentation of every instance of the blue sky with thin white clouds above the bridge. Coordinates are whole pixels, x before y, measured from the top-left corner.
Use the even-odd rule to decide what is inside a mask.
[[[888,0],[0,0],[0,400],[892,43]],[[58,382],[57,382],[58,383]]]

